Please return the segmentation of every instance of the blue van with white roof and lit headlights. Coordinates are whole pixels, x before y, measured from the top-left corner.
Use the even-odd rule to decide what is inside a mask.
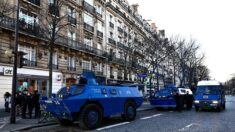
[[[215,80],[199,81],[194,95],[195,110],[225,109],[226,99],[224,88],[221,83]]]

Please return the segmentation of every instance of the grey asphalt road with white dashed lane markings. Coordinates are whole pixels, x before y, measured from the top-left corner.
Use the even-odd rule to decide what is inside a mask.
[[[123,122],[120,118],[105,120],[94,131],[101,132],[234,132],[235,131],[235,97],[226,97],[226,110],[216,112],[206,110],[175,112],[169,110],[149,110],[138,112],[132,122]],[[30,132],[80,132],[78,124],[70,127],[59,125],[29,130]]]

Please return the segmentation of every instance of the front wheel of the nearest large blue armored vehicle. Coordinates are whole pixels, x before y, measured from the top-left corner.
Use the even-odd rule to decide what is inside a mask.
[[[97,128],[101,121],[102,109],[96,104],[86,105],[79,116],[80,127],[85,130]]]

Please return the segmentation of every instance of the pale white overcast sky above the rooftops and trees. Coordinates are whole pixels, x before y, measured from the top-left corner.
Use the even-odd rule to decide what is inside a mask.
[[[235,0],[128,1],[168,36],[196,39],[213,79],[224,82],[235,73]]]

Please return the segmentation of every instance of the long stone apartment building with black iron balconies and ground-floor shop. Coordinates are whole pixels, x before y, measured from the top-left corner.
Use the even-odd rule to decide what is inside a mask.
[[[11,6],[17,1],[9,0]],[[48,40],[40,32],[43,10],[53,10],[54,0],[19,0],[18,51],[27,53],[27,65],[18,68],[17,87],[48,90]],[[56,11],[56,10],[54,10]],[[51,12],[49,12],[51,13]],[[53,51],[53,89],[76,84],[83,71],[94,71],[108,82],[133,82],[147,65],[145,38],[154,40],[157,27],[138,13],[138,5],[125,0],[67,0],[55,15],[68,24],[61,30]],[[0,96],[11,91],[16,13],[0,15]],[[133,57],[134,56],[134,57]],[[125,69],[127,70],[126,76]],[[0,104],[3,102],[0,99]]]

